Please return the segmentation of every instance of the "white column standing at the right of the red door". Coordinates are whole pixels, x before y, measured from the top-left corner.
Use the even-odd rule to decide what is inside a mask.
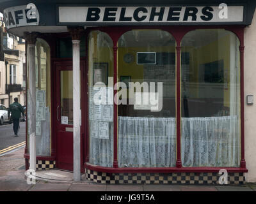
[[[81,180],[80,41],[73,43],[74,180]]]

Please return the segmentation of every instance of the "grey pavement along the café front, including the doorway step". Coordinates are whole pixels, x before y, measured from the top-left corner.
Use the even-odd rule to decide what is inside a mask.
[[[256,191],[255,184],[239,186],[169,185],[169,184],[95,184],[84,179],[73,181],[73,174],[63,170],[36,171],[36,183],[25,176],[24,147],[0,156],[0,191]]]

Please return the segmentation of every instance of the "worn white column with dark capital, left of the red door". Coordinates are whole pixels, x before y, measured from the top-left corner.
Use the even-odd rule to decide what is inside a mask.
[[[29,169],[36,170],[36,64],[35,64],[35,33],[25,33],[27,41],[27,64],[28,64],[28,135],[29,135]]]

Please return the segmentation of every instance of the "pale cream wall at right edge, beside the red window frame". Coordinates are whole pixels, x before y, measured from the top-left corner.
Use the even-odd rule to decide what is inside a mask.
[[[256,182],[256,12],[252,25],[244,33],[244,139],[246,182]],[[254,96],[254,104],[246,105],[246,96]]]

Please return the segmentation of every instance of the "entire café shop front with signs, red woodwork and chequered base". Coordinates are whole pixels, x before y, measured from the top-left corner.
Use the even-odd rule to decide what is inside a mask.
[[[26,39],[26,168],[107,184],[212,184],[224,169],[244,183],[255,4],[74,3],[1,5]]]

